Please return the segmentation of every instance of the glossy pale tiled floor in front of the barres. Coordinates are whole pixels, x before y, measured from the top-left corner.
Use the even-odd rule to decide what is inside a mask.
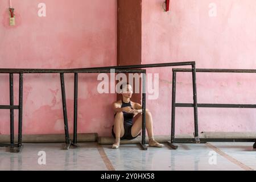
[[[101,146],[115,170],[243,170],[238,163],[256,170],[256,150],[253,143],[210,143],[229,158],[216,153],[217,164],[210,165],[212,148],[206,144],[179,144],[171,150],[148,148],[142,151],[138,145],[121,145],[113,150],[110,145]],[[61,143],[24,144],[20,153],[6,152],[0,148],[0,170],[108,170],[98,151],[97,143],[80,143],[79,148],[61,150]],[[46,152],[46,165],[39,165],[39,151]],[[214,152],[213,152],[214,153]]]

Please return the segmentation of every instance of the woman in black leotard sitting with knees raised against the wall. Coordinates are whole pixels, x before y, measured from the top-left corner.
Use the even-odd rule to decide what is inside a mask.
[[[115,112],[114,126],[112,128],[112,135],[115,138],[115,143],[112,148],[118,148],[120,140],[131,140],[138,137],[142,130],[142,114],[133,123],[133,118],[142,113],[142,106],[131,101],[133,95],[133,88],[130,84],[121,86],[122,100],[113,103],[113,110]],[[146,129],[149,138],[148,146],[163,147],[163,144],[156,142],[153,134],[153,121],[150,111],[146,109]]]

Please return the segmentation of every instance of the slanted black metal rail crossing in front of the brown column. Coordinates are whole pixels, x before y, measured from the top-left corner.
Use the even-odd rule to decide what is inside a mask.
[[[195,61],[189,62],[176,62],[176,63],[157,63],[157,64],[139,64],[139,65],[124,65],[124,66],[113,66],[113,67],[94,67],[94,68],[77,68],[73,70],[80,69],[136,69],[136,68],[156,68],[156,67],[177,67],[185,65],[195,65]]]

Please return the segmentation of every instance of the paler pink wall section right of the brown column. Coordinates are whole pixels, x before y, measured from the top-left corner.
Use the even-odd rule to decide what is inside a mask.
[[[171,11],[163,0],[142,1],[143,64],[196,61],[197,68],[256,69],[256,1],[179,0]],[[217,16],[210,17],[210,3]],[[159,99],[147,101],[156,134],[170,134],[171,69],[159,73]],[[256,75],[197,73],[199,103],[255,104]],[[177,74],[177,102],[192,102],[190,73]],[[192,133],[193,110],[176,111],[177,133]],[[199,109],[200,131],[255,131],[253,109]]]

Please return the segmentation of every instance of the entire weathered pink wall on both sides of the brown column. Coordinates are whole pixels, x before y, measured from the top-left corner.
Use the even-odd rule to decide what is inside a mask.
[[[142,1],[142,64],[196,61],[197,68],[256,69],[254,0]],[[1,1],[0,68],[78,68],[117,63],[117,3],[108,0],[13,0],[16,26],[9,26],[9,1]],[[44,2],[47,16],[38,16]],[[209,16],[215,3],[217,16]],[[10,50],[11,48],[11,50]],[[170,134],[171,69],[159,73],[158,100],[147,100],[155,134]],[[66,77],[68,110],[73,76]],[[79,77],[79,133],[110,135],[116,95],[97,93],[96,75]],[[256,75],[197,73],[200,103],[255,104]],[[0,104],[9,104],[8,75],[0,75]],[[24,76],[24,134],[64,133],[59,75]],[[15,76],[15,103],[18,103]],[[177,101],[192,102],[191,75],[177,75]],[[177,133],[192,133],[193,110],[177,109]],[[15,113],[17,117],[17,113]],[[0,110],[0,134],[9,133],[9,111]],[[72,131],[73,113],[68,113]],[[255,131],[253,109],[199,109],[200,131]]]

